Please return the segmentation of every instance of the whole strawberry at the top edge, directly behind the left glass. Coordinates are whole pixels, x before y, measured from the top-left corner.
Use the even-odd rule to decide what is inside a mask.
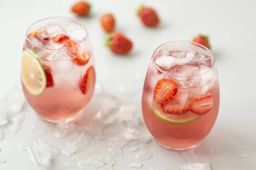
[[[76,13],[77,15],[83,17],[87,16],[90,11],[90,4],[85,1],[79,1],[71,7],[71,11]]]

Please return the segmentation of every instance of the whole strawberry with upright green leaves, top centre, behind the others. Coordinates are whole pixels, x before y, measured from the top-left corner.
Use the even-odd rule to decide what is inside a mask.
[[[137,14],[145,26],[155,27],[160,22],[159,17],[157,16],[157,13],[153,8],[141,5],[137,9]]]

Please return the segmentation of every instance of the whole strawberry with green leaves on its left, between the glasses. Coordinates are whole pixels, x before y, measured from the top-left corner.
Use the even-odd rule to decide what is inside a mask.
[[[126,54],[132,48],[131,40],[119,32],[108,34],[105,45],[115,54]]]

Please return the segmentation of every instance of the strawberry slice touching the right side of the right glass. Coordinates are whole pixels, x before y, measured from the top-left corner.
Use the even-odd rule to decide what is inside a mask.
[[[204,114],[213,107],[213,94],[200,94],[190,103],[189,111],[195,114]]]

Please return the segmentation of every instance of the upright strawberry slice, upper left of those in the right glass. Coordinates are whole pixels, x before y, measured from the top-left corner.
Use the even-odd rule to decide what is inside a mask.
[[[172,100],[177,93],[177,83],[172,79],[163,78],[154,89],[154,101],[163,104]]]

